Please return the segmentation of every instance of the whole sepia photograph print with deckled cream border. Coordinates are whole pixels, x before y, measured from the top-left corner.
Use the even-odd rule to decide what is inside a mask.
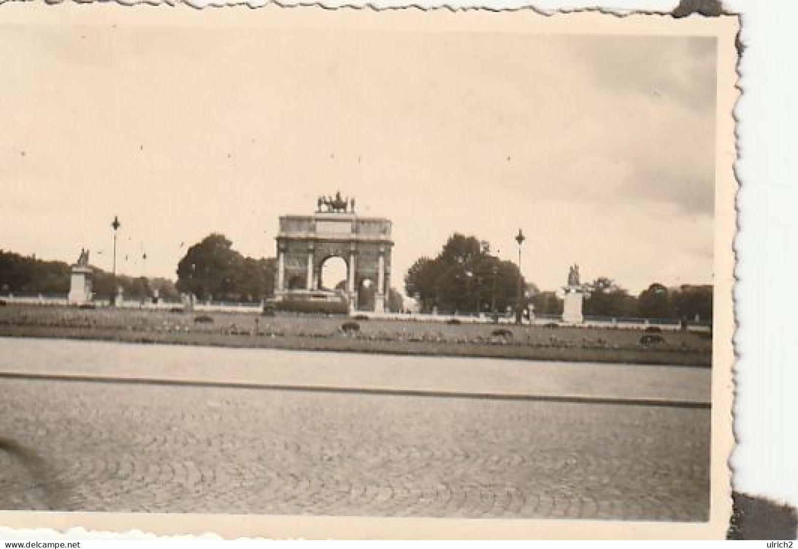
[[[0,509],[728,519],[734,22],[2,9]]]

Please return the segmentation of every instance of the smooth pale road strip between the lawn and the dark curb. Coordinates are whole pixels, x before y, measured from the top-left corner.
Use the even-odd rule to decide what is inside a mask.
[[[122,377],[500,396],[709,404],[712,370],[0,338],[0,377]]]

